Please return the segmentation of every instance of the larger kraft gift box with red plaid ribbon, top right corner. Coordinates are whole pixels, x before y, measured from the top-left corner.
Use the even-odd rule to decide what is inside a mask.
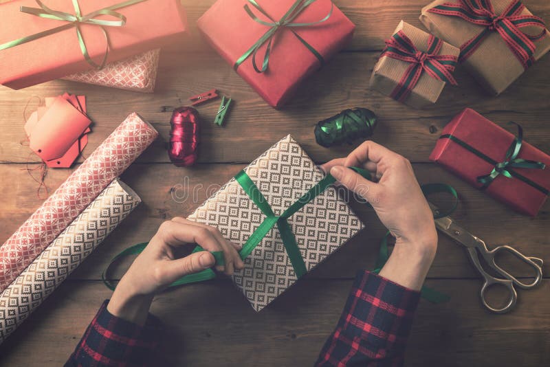
[[[494,95],[550,50],[544,21],[519,0],[437,0],[422,9],[420,21],[460,47],[460,62]]]

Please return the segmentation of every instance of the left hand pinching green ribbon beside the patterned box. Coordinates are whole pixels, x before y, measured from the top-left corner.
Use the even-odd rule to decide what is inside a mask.
[[[194,247],[195,243],[207,251],[177,258],[181,247],[188,244]],[[155,293],[182,276],[214,266],[210,252],[223,251],[225,265],[217,265],[218,271],[231,275],[234,269],[243,269],[239,249],[209,225],[181,217],[166,221],[118,283],[107,310],[120,318],[143,323]]]

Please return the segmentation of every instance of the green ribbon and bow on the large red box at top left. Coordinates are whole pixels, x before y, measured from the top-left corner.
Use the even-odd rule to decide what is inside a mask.
[[[8,43],[3,43],[2,45],[0,45],[0,51],[3,49],[8,49],[10,47],[22,45],[23,43],[28,43],[30,41],[34,41],[36,39],[39,39],[45,36],[50,36],[51,34],[62,32],[64,30],[68,30],[69,28],[74,27],[74,29],[76,30],[76,36],[78,38],[78,45],[80,45],[80,52],[82,52],[85,60],[92,67],[96,69],[102,69],[105,66],[105,63],[107,63],[107,55],[109,54],[109,33],[107,33],[107,30],[105,30],[104,26],[122,27],[124,24],[126,24],[126,16],[124,16],[120,12],[115,12],[114,10],[119,8],[124,8],[129,5],[134,5],[136,3],[141,3],[146,0],[128,0],[122,3],[108,6],[107,8],[96,10],[94,12],[91,12],[85,15],[83,15],[80,12],[80,5],[78,4],[78,0],[72,0],[73,6],[74,6],[74,14],[71,14],[68,12],[61,12],[59,10],[52,10],[48,8],[46,5],[44,5],[42,1],[40,0],[35,0],[35,1],[36,3],[39,4],[40,8],[29,8],[28,6],[21,6],[21,12],[31,14],[34,16],[40,16],[41,18],[44,18],[44,19],[53,19],[54,21],[65,21],[67,22],[67,24],[60,25],[58,27],[54,27],[54,28],[51,28],[50,30],[45,30],[43,32],[32,34],[30,36],[21,37],[19,39],[10,41]],[[96,19],[97,16],[101,16],[101,15],[110,15],[119,20],[107,21],[104,19]],[[105,52],[103,54],[103,60],[100,64],[96,64],[94,60],[92,60],[91,57],[89,56],[88,49],[86,47],[86,43],[84,41],[82,32],[80,32],[80,24],[96,25],[100,27],[100,29],[102,30],[105,38]]]

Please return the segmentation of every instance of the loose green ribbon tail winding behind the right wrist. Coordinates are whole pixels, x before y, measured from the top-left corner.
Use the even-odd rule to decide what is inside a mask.
[[[452,214],[452,212],[454,212],[454,210],[456,210],[456,205],[459,204],[459,194],[456,192],[456,190],[454,190],[452,186],[447,185],[446,183],[426,183],[425,185],[421,186],[421,189],[426,198],[430,194],[435,194],[439,192],[446,192],[448,194],[451,194],[454,198],[451,208],[445,210],[444,212],[435,212],[434,219],[443,218],[443,216],[449,216],[450,214]],[[388,231],[384,235],[384,238],[382,238],[382,241],[380,241],[380,251],[378,252],[375,268],[372,271],[375,274],[380,273],[382,267],[384,267],[384,264],[386,264],[386,261],[388,261],[388,258],[390,258],[390,251],[388,247],[388,238],[390,236],[391,232]],[[422,288],[420,289],[420,295],[422,298],[432,303],[442,303],[448,302],[448,300],[450,300],[450,296],[448,296],[447,294],[436,291],[435,289],[432,289],[430,287],[426,287],[425,285],[422,286]]]

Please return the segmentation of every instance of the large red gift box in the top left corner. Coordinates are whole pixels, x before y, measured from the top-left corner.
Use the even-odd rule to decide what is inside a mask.
[[[78,0],[83,16],[103,8],[116,7],[120,3],[120,0]],[[0,18],[10,19],[3,22],[0,27],[0,84],[13,89],[30,87],[94,69],[84,56],[82,44],[85,44],[89,58],[97,66],[101,66],[107,52],[107,40],[109,49],[106,62],[113,63],[180,42],[186,32],[186,14],[179,0],[136,1],[123,8],[113,9],[120,16],[124,16],[126,22],[120,26],[118,23],[104,26],[105,33],[98,25],[36,16],[21,11],[21,7],[37,8],[45,12],[33,0],[16,0],[0,4]],[[72,0],[48,0],[47,7],[67,14],[76,14]],[[93,16],[91,21],[94,19],[120,22],[119,18],[108,15]],[[83,43],[79,42],[77,25]],[[50,30],[55,32],[43,34]],[[30,36],[36,38],[8,47],[13,41]]]

